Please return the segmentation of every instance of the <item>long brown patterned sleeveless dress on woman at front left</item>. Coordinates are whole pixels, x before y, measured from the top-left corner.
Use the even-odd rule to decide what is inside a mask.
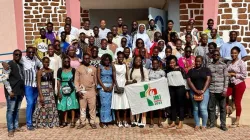
[[[52,84],[53,76],[53,72],[42,72],[41,92],[44,98],[44,106],[40,104],[38,98],[38,103],[33,114],[33,125],[35,127],[59,126],[59,117]]]

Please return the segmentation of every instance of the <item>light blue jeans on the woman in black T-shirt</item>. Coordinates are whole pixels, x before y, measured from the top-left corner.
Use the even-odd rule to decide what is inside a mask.
[[[207,119],[208,119],[207,106],[208,106],[208,100],[209,100],[209,90],[207,89],[204,92],[204,97],[201,102],[196,102],[194,100],[194,91],[190,90],[190,95],[191,95],[190,97],[193,103],[193,115],[194,115],[195,126],[200,126],[200,117],[201,117],[202,126],[206,127]],[[200,112],[200,116],[199,116],[199,112]]]

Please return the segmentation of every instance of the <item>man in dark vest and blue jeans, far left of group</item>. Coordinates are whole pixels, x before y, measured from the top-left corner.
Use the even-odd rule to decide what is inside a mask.
[[[24,96],[24,71],[20,63],[21,58],[22,52],[14,50],[13,60],[8,62],[9,70],[3,69],[0,77],[4,84],[7,103],[6,120],[9,137],[14,137],[14,132],[24,131],[19,127],[19,109]]]

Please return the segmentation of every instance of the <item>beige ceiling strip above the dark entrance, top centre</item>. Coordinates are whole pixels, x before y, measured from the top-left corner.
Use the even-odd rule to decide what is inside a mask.
[[[149,7],[166,9],[167,4],[165,3],[168,0],[80,0],[80,1],[81,1],[81,7],[85,10],[88,10],[88,9],[144,9]]]

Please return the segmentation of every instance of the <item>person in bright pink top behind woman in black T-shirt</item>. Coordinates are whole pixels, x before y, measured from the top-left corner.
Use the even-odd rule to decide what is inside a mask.
[[[194,67],[195,57],[191,55],[192,48],[190,46],[185,47],[184,53],[185,55],[179,58],[178,64],[187,73],[190,69]]]

